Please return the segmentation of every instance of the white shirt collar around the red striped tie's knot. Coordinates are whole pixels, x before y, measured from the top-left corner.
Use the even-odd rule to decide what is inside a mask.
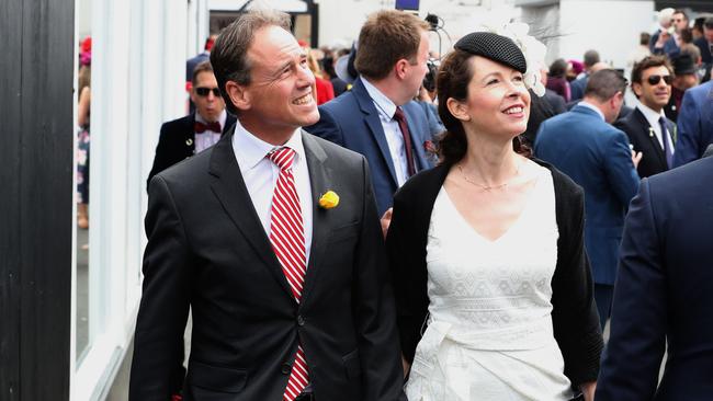
[[[296,165],[305,159],[305,147],[302,142],[302,128],[295,129],[290,139],[283,146],[274,146],[264,140],[256,137],[248,131],[240,121],[235,123],[235,134],[233,134],[233,149],[235,156],[240,164],[240,170],[251,170],[260,163],[273,149],[288,147],[295,151],[295,160],[293,165]]]

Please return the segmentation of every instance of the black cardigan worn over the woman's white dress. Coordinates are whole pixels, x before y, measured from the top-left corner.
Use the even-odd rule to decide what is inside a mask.
[[[559,239],[552,277],[554,336],[565,360],[565,376],[574,386],[597,380],[603,347],[593,301],[589,260],[584,247],[584,191],[551,164]],[[428,314],[426,245],[433,203],[448,165],[411,177],[394,196],[394,214],[386,247],[398,311],[401,352],[410,363]]]

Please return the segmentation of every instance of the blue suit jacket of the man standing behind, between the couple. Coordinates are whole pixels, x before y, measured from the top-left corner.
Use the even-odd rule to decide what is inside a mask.
[[[427,152],[432,141],[428,118],[416,102],[401,106],[411,134],[412,154],[417,171],[434,165],[434,157]],[[394,161],[388,151],[386,135],[382,127],[374,101],[361,78],[351,91],[319,106],[319,122],[305,130],[363,154],[369,161],[372,183],[380,216],[392,207],[394,193],[398,190]]]

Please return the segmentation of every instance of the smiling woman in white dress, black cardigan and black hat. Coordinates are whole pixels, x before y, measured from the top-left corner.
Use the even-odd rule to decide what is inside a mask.
[[[520,154],[525,71],[505,36],[459,41],[438,76],[441,163],[395,196],[387,249],[411,401],[592,400],[602,337],[584,194]]]

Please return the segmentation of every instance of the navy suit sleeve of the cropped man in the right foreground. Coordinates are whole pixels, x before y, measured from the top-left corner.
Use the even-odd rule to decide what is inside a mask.
[[[654,399],[667,324],[660,242],[648,180],[644,180],[624,226],[597,401]]]

